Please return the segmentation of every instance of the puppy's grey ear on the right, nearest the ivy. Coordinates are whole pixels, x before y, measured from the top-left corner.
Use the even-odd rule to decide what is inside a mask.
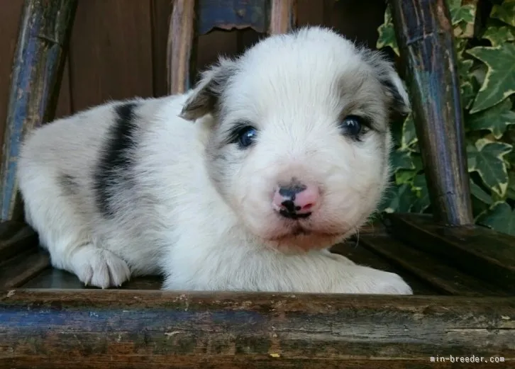
[[[389,97],[391,115],[408,115],[411,112],[409,96],[392,63],[377,51],[362,50],[362,57],[374,69],[384,93]]]

